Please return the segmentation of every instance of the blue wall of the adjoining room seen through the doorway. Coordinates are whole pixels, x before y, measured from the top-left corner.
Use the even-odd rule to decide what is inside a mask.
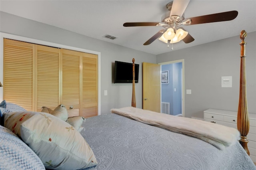
[[[169,83],[162,83],[162,102],[170,103],[170,115],[182,114],[182,63],[162,65],[162,71],[169,71]]]

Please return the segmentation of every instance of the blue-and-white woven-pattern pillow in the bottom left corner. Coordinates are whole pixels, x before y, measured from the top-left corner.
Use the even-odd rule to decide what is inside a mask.
[[[40,158],[8,128],[0,126],[1,170],[44,170]]]

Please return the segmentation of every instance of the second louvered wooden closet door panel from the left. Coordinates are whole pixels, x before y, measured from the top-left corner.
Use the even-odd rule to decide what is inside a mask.
[[[60,49],[36,45],[36,105],[55,109],[60,103]]]

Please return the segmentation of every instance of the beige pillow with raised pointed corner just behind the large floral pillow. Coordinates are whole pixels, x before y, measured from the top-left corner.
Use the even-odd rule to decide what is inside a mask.
[[[51,115],[54,115],[58,118],[60,118],[62,121],[65,121],[68,119],[68,110],[66,107],[62,104],[58,105],[54,110],[43,106],[41,112],[50,113]]]

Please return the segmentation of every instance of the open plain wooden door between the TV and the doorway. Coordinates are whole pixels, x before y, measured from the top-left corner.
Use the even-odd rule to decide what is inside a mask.
[[[142,63],[142,109],[160,113],[161,65]]]

